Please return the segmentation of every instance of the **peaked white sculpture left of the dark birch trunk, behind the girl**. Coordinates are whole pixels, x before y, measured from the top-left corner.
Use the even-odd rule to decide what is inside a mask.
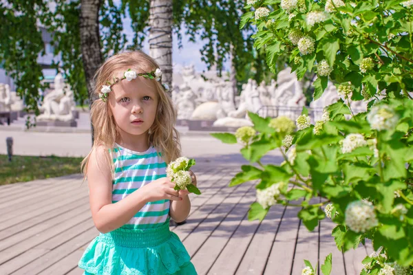
[[[73,110],[76,106],[72,89],[63,82],[63,77],[58,74],[54,78],[54,90],[48,93],[43,99],[43,104],[39,109],[43,111],[37,116],[39,121],[72,121],[74,120]]]

